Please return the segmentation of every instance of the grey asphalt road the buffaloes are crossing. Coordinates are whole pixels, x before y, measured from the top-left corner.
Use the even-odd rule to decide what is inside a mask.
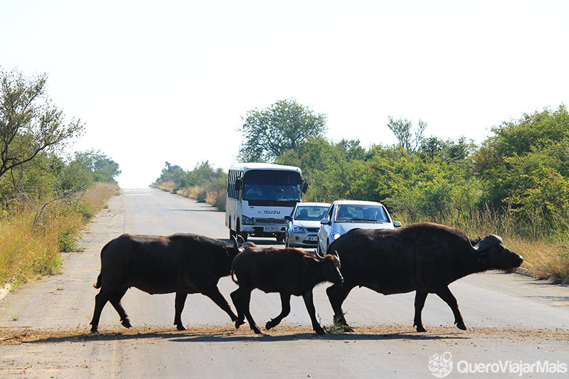
[[[101,333],[88,332],[97,294],[92,284],[106,242],[122,233],[178,232],[229,242],[223,220],[224,213],[209,205],[157,190],[124,190],[112,198],[85,230],[85,251],[64,255],[60,275],[0,300],[0,377],[433,378],[432,371],[442,375],[451,365],[448,378],[569,375],[569,287],[501,272],[451,284],[467,331],[459,331],[448,306],[430,295],[422,317],[427,332],[416,333],[414,294],[386,297],[368,289],[354,289],[344,303],[355,333],[317,336],[296,297],[291,314],[265,336],[247,324],[236,331],[199,294],[186,300],[188,331],[176,331],[174,294],[130,289],[122,304],[134,328],[122,328],[107,304]],[[219,287],[228,300],[236,288],[228,277]],[[323,325],[332,321],[326,287],[314,289]],[[264,326],[280,312],[278,294],[253,292],[251,311]]]

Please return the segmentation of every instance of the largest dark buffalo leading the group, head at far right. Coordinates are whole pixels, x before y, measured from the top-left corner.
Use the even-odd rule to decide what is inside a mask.
[[[425,331],[421,311],[427,294],[437,294],[452,309],[454,324],[466,330],[448,285],[474,272],[519,267],[523,258],[504,247],[497,235],[486,235],[472,245],[459,230],[421,223],[395,230],[353,229],[332,242],[329,251],[341,258],[344,282],[326,289],[334,323],[346,324],[342,303],[356,286],[382,294],[416,291],[417,331]]]

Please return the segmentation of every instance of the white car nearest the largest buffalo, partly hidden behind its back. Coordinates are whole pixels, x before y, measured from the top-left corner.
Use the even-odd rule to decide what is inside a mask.
[[[348,230],[394,229],[401,226],[393,222],[388,210],[375,201],[339,200],[334,201],[328,212],[320,220],[317,250],[326,254],[329,245]]]

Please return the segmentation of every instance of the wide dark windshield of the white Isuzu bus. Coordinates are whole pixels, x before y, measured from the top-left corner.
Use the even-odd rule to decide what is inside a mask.
[[[244,200],[300,201],[297,171],[251,170],[243,178]]]

